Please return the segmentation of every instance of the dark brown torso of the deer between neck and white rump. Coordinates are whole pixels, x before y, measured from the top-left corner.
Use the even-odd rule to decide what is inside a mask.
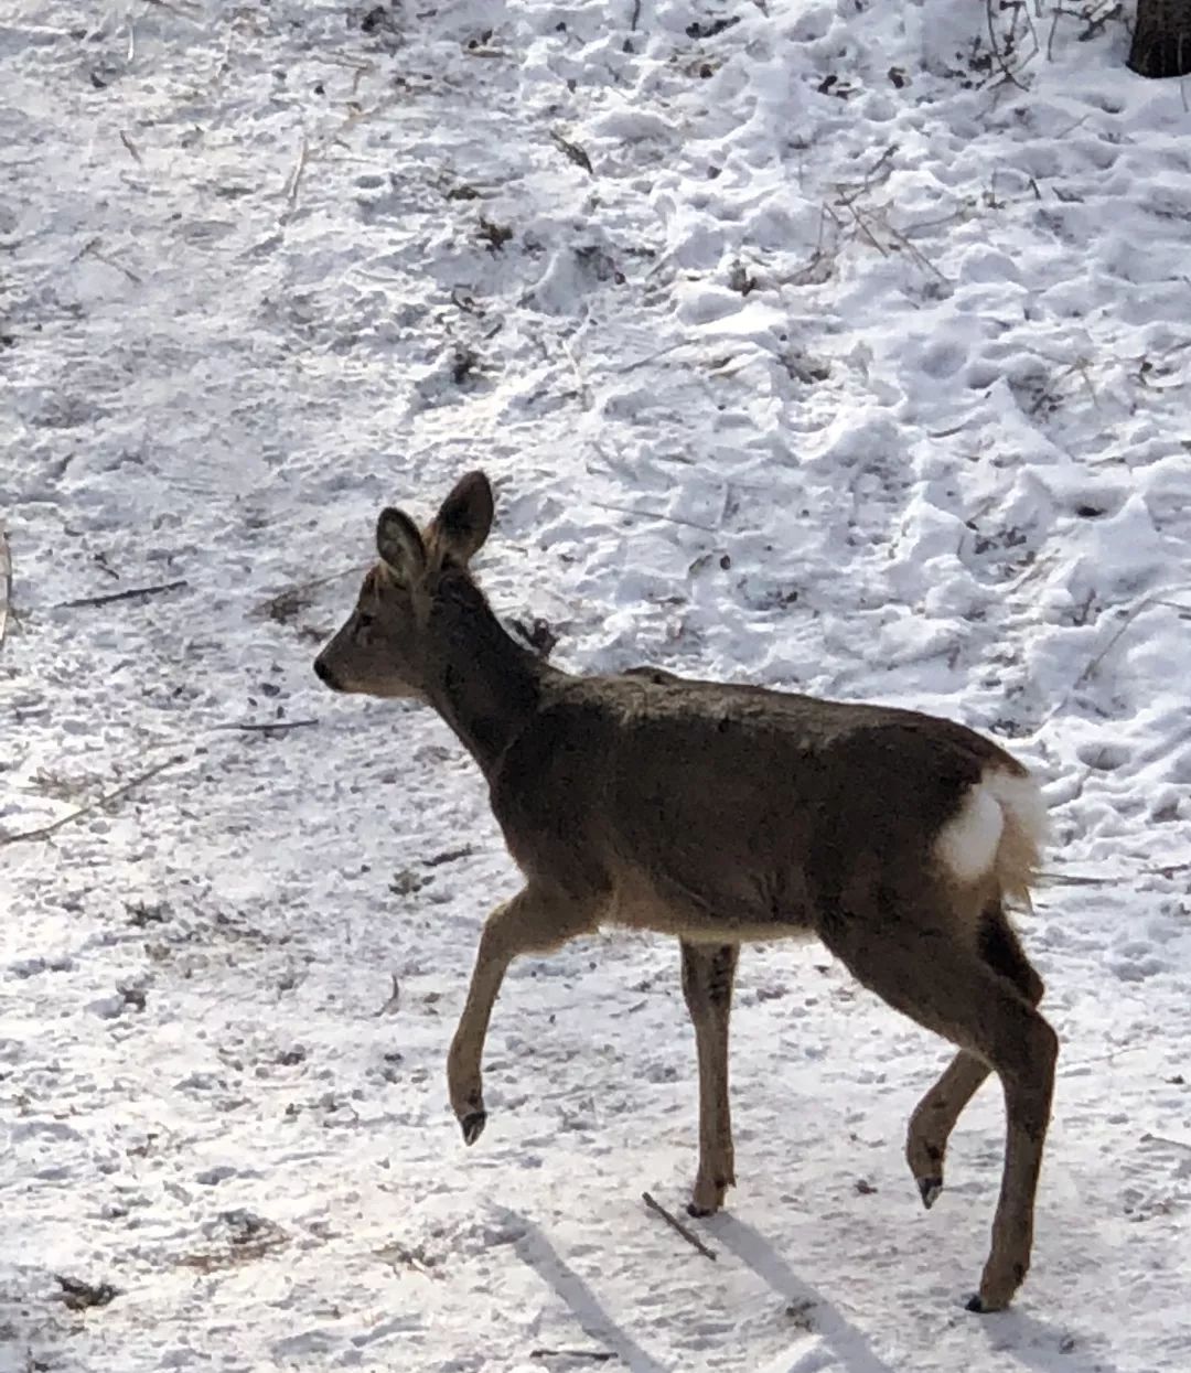
[[[911,711],[551,671],[490,781],[521,869],[602,902],[602,923],[749,942],[823,936],[882,886],[919,895],[925,833],[985,769],[1021,776]]]

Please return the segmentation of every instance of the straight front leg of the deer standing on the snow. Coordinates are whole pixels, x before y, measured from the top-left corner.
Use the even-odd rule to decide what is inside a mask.
[[[712,1215],[736,1181],[728,1105],[728,1017],[739,945],[681,942],[683,995],[695,1027],[699,1060],[699,1171],[687,1210]]]

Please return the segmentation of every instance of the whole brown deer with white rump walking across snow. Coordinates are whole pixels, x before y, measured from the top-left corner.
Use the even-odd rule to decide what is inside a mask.
[[[576,677],[506,634],[468,571],[492,489],[464,476],[422,531],[385,509],[379,562],[315,670],[337,691],[427,702],[488,780],[525,887],[488,917],[448,1057],[474,1144],[481,1057],[510,961],[603,924],[676,935],[699,1065],[688,1210],[735,1182],[728,1016],[739,946],[817,936],[892,1006],[959,1052],[909,1122],[923,1203],[990,1071],[1007,1141],[974,1311],[1004,1307],[1030,1260],[1058,1041],[1006,916],[1040,861],[1025,768],[946,719],[639,669]]]

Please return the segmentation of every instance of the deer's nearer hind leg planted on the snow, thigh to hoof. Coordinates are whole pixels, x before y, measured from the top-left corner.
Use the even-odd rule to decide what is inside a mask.
[[[1034,1195],[1054,1092],[1058,1039],[1017,987],[989,967],[951,921],[883,902],[871,919],[839,912],[824,943],[892,1006],[944,1035],[1001,1079],[1006,1155],[992,1248],[973,1311],[1000,1311],[1030,1265]],[[946,1074],[944,1074],[946,1076]]]

